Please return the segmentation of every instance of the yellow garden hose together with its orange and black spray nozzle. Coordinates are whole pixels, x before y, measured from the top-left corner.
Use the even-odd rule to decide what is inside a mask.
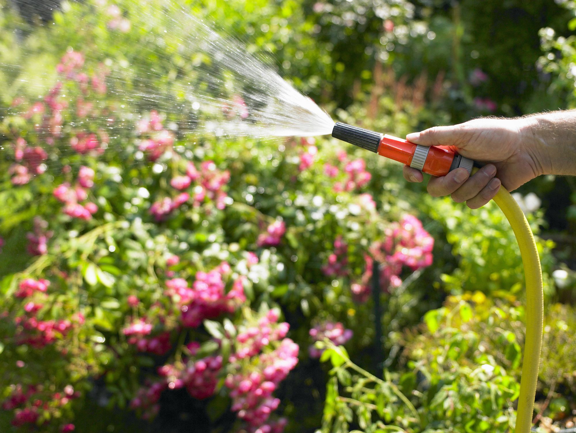
[[[392,137],[363,129],[347,123],[336,123],[332,137],[354,144],[378,155],[410,165],[433,176],[445,176],[456,168],[463,167],[469,174],[474,174],[482,164],[458,155],[452,150],[437,146],[420,146],[402,138]],[[516,433],[529,433],[532,427],[532,412],[536,396],[536,384],[540,367],[540,350],[544,322],[544,294],[542,286],[542,269],[536,248],[536,241],[528,220],[505,188],[500,188],[494,202],[509,221],[522,256],[524,277],[526,280],[526,340],[522,360],[522,377]]]

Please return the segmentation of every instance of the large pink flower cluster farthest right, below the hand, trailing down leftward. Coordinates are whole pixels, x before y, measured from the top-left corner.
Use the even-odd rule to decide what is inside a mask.
[[[386,229],[385,235],[385,240],[372,244],[372,257],[366,255],[366,270],[361,283],[351,285],[351,291],[359,302],[369,296],[374,259],[379,263],[380,285],[384,292],[400,286],[403,266],[416,271],[432,264],[434,238],[415,216],[405,215],[399,223],[393,223]]]

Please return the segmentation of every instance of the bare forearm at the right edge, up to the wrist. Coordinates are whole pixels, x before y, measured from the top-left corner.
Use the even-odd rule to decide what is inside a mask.
[[[525,152],[539,174],[576,175],[576,110],[554,111],[519,119]]]

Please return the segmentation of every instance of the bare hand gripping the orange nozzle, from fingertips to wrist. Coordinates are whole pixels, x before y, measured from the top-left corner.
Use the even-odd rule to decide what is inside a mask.
[[[490,163],[472,176],[464,168],[457,168],[428,182],[427,189],[433,197],[450,194],[454,201],[465,201],[471,209],[487,204],[501,185],[512,191],[543,174],[534,157],[535,141],[526,119],[475,119],[408,134],[406,140],[423,146],[442,146],[475,161]],[[423,175],[405,165],[404,178],[422,182]]]

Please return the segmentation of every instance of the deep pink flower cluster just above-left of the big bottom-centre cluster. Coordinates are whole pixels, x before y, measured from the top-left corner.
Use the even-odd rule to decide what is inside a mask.
[[[237,278],[226,293],[223,276],[231,273],[230,265],[221,263],[210,272],[197,272],[192,287],[183,278],[166,281],[165,294],[182,311],[184,326],[198,327],[204,319],[218,317],[223,312],[233,312],[246,300],[244,295],[244,277]]]

